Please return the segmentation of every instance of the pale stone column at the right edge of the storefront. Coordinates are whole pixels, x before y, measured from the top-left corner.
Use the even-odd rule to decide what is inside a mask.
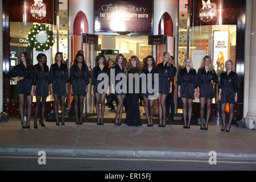
[[[246,2],[248,3],[248,2]],[[251,1],[251,12],[256,11],[256,0]],[[249,63],[249,96],[248,112],[246,114],[246,127],[253,128],[253,121],[256,121],[256,14],[251,13],[250,32],[250,63]],[[246,72],[246,70],[245,70]],[[247,85],[245,85],[246,87]]]

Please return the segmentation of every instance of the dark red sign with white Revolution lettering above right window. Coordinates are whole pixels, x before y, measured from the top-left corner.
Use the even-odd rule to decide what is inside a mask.
[[[241,0],[193,0],[191,3],[191,26],[237,24],[244,6]]]

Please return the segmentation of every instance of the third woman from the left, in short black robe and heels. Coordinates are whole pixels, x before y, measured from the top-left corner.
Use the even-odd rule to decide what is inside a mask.
[[[59,96],[61,103],[61,125],[64,123],[64,111],[65,111],[65,95],[68,93],[68,67],[63,60],[63,55],[57,52],[55,55],[55,63],[51,65],[50,69],[50,81],[49,85],[50,94],[54,97],[54,110],[56,117],[56,125],[59,126]]]

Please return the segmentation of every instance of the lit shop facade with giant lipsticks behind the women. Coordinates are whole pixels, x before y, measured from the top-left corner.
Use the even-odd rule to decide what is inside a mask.
[[[246,24],[248,21],[253,22],[250,19],[252,15],[248,12],[250,8],[254,8],[255,0],[152,0],[147,3],[130,0],[112,1],[112,4],[102,0],[52,0],[41,2],[47,9],[47,16],[42,19],[36,19],[35,15],[31,15],[31,19],[28,18],[28,9],[33,10],[31,7],[34,1],[12,1],[11,5],[8,1],[2,3],[2,14],[5,15],[2,23],[3,73],[9,71],[14,63],[18,63],[14,59],[19,60],[20,51],[31,52],[32,63],[36,63],[34,55],[37,52],[25,44],[26,37],[34,24],[45,23],[49,24],[55,35],[55,43],[49,51],[49,65],[52,64],[57,51],[64,52],[70,68],[75,53],[79,49],[84,49],[90,69],[94,67],[95,56],[102,51],[107,59],[113,59],[117,53],[125,55],[127,60],[131,55],[137,55],[141,61],[147,55],[153,55],[157,63],[162,61],[163,51],[168,51],[175,57],[177,70],[183,65],[186,56],[192,58],[193,66],[197,70],[201,59],[205,55],[210,55],[214,61],[215,70],[220,75],[225,71],[223,63],[231,59],[236,65],[241,85],[235,117],[246,117],[250,102],[249,90],[246,89],[250,76],[246,74],[251,68],[246,64],[246,55],[247,59],[249,56],[245,49]],[[63,4],[67,6],[65,11],[61,11],[60,8]],[[66,16],[67,18],[63,18]],[[61,28],[64,29],[61,30]],[[82,33],[97,35],[97,45],[82,43]],[[148,44],[148,36],[162,34],[167,35],[167,44]],[[18,42],[19,39],[16,38],[25,40],[21,39],[22,42]],[[15,109],[18,108],[14,94],[15,85],[16,83],[6,80],[3,75],[3,110],[11,110],[9,112],[13,114],[10,115],[18,115],[18,110]],[[215,90],[217,95],[217,86]],[[48,102],[48,107],[51,107],[51,97],[48,98]],[[213,99],[211,116],[214,118],[220,118],[218,103],[217,97]],[[93,113],[94,103],[90,94],[88,94],[86,105],[86,111]],[[176,113],[181,113],[182,106],[176,93],[175,105]],[[199,106],[199,98],[196,98],[193,103],[195,117],[199,115]]]

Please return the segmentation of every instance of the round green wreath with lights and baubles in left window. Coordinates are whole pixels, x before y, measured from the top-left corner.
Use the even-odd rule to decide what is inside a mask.
[[[39,34],[40,31],[44,31],[47,34],[45,43],[40,43],[36,40],[36,34]],[[50,27],[46,26],[46,24],[33,24],[28,32],[27,40],[27,46],[31,46],[36,51],[44,52],[53,46],[53,32]]]

